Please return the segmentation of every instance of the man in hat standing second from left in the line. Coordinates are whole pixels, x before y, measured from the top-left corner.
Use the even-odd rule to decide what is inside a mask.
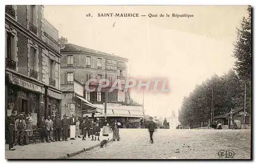
[[[17,145],[19,140],[19,145],[24,146],[23,139],[24,139],[24,133],[26,129],[26,121],[23,118],[24,118],[24,115],[19,114],[19,117],[15,122],[16,137],[15,137],[14,145]]]

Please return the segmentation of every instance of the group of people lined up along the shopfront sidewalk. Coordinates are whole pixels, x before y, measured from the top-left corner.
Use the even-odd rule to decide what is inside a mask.
[[[7,117],[7,125],[8,125],[8,142],[9,142],[9,150],[15,150],[13,146],[19,144],[20,146],[24,146],[24,134],[25,130],[29,136],[33,135],[32,129],[32,118],[30,114],[25,117],[23,114],[19,114],[18,119],[16,120],[15,110],[12,111],[12,114]],[[108,136],[109,132],[113,131],[113,140],[119,140],[119,128],[117,121],[112,124],[112,127],[109,126],[107,120],[103,123],[103,136]],[[70,132],[70,139],[74,140],[76,137],[81,138],[82,140],[86,140],[86,136],[91,138],[91,140],[100,140],[100,127],[99,120],[94,121],[93,119],[89,120],[88,116],[80,121],[78,117],[75,117],[72,114],[72,117],[67,119],[67,115],[63,115],[63,119],[60,120],[59,115],[57,114],[54,120],[51,120],[51,116],[48,115],[47,119],[45,119],[45,115],[42,114],[40,119],[37,121],[37,128],[39,130],[41,143],[44,143],[45,140],[47,143],[50,142],[60,142],[60,141],[68,141],[68,136]],[[81,134],[79,129],[81,129]],[[15,141],[13,143],[13,135],[15,131]],[[62,132],[62,140],[60,140],[60,133]],[[53,135],[54,133],[54,135]]]

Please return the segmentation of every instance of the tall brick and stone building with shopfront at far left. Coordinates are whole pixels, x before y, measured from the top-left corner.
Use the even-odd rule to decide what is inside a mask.
[[[44,18],[42,5],[5,7],[6,116],[11,110],[40,114],[61,112],[58,31]]]

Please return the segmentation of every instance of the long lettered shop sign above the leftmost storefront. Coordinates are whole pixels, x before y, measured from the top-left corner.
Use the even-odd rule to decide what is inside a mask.
[[[45,94],[45,88],[44,87],[41,87],[41,86],[36,85],[36,84],[33,84],[33,83],[29,82],[29,81],[26,81],[24,79],[18,78],[16,76],[9,75],[9,81],[12,84],[14,84],[14,85],[18,85],[18,86],[24,87],[26,89],[37,91],[37,92],[40,92],[42,94]]]

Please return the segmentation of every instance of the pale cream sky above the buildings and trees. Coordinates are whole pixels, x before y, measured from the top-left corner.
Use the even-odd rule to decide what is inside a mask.
[[[236,28],[247,6],[45,6],[44,17],[69,43],[129,59],[131,76],[163,77],[168,93],[145,93],[145,114],[178,114],[184,96],[233,67]],[[91,17],[87,17],[87,14]],[[158,17],[97,17],[97,13]],[[164,17],[159,17],[160,14]],[[177,18],[172,14],[194,17]],[[170,17],[166,17],[169,14]],[[113,27],[113,24],[115,26]],[[143,93],[132,92],[137,102]]]

